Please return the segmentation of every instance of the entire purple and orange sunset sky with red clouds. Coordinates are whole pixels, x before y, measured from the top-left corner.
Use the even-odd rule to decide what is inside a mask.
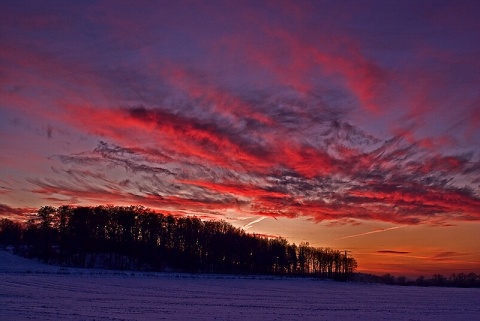
[[[143,205],[480,273],[478,1],[2,1],[0,217]]]

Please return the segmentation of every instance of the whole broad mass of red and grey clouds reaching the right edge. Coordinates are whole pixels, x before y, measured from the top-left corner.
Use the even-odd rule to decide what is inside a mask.
[[[82,111],[79,108],[72,110],[77,113]],[[415,159],[421,152],[418,145],[401,138],[386,142],[371,153],[332,142],[331,150],[337,154],[335,158],[324,149],[306,145],[296,137],[285,137],[279,141],[273,136],[264,139],[267,145],[262,153],[257,153],[248,140],[243,140],[244,137],[234,136],[235,131],[161,109],[99,110],[88,123],[82,117],[82,114],[75,117],[80,126],[97,128],[102,120],[109,119],[110,122],[101,127],[103,135],[132,145],[135,141],[129,133],[133,133],[136,139],[144,137],[148,141],[162,142],[166,145],[159,148],[162,153],[169,153],[172,161],[181,156],[185,160],[208,166],[214,173],[212,175],[222,178],[215,183],[200,181],[195,177],[176,181],[182,189],[188,190],[196,186],[204,189],[202,193],[213,192],[211,195],[215,195],[216,200],[199,198],[198,195],[202,193],[195,197],[192,197],[193,194],[179,197],[172,194],[173,191],[166,191],[162,194],[164,196],[159,196],[155,195],[155,185],[152,185],[145,189],[148,191],[146,194],[133,196],[123,193],[121,197],[113,198],[122,202],[131,200],[135,204],[142,204],[143,199],[148,203],[144,205],[152,204],[155,208],[172,212],[195,211],[195,208],[201,209],[200,211],[217,211],[237,208],[240,199],[248,197],[249,204],[242,204],[242,211],[273,217],[309,216],[317,221],[356,218],[404,224],[480,219],[476,211],[480,201],[471,193],[446,186],[439,180],[441,176],[438,176],[452,176],[475,170],[470,159],[423,153],[425,157],[420,161]],[[280,124],[274,128],[281,129]],[[353,139],[353,127],[345,128],[349,132],[342,136]],[[155,154],[154,149],[123,150],[145,157]],[[115,157],[124,154],[108,148],[99,151],[115,153]],[[126,161],[123,163],[128,164]],[[224,170],[243,173],[247,177],[253,175],[251,185],[226,179],[223,176]],[[296,179],[292,182],[296,183],[279,181],[275,186],[255,179],[256,175],[275,177],[283,175],[285,171],[293,171],[290,175]],[[325,184],[324,179],[332,176],[338,177],[340,181]],[[391,182],[386,181],[387,177]],[[428,184],[424,183],[427,179],[430,181]],[[129,186],[135,187],[134,184]],[[91,189],[87,189],[88,192],[71,189],[70,193],[68,188],[54,191],[45,184],[42,188],[36,192],[58,193],[72,199],[109,199],[110,194],[118,193],[105,190],[90,193]]]

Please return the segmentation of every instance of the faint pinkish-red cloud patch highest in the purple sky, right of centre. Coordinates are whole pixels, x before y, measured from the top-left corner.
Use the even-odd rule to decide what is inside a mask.
[[[271,49],[253,47],[239,39],[228,43],[234,50],[244,50],[251,62],[270,71],[281,84],[300,93],[313,91],[318,85],[314,79],[320,73],[337,83],[343,79],[363,107],[379,111],[379,87],[385,84],[387,72],[363,55],[353,39],[318,35],[313,44],[288,30],[269,28],[265,35],[273,44]]]

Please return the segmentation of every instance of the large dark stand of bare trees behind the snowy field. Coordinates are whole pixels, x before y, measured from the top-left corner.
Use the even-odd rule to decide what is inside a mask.
[[[225,221],[174,217],[142,206],[44,206],[25,224],[1,220],[0,242],[27,257],[76,267],[341,280],[357,268],[347,252],[297,246]]]

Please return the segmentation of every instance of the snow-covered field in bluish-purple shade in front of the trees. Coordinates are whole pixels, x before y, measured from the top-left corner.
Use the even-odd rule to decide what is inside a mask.
[[[0,251],[0,320],[480,320],[480,289],[66,269]]]

